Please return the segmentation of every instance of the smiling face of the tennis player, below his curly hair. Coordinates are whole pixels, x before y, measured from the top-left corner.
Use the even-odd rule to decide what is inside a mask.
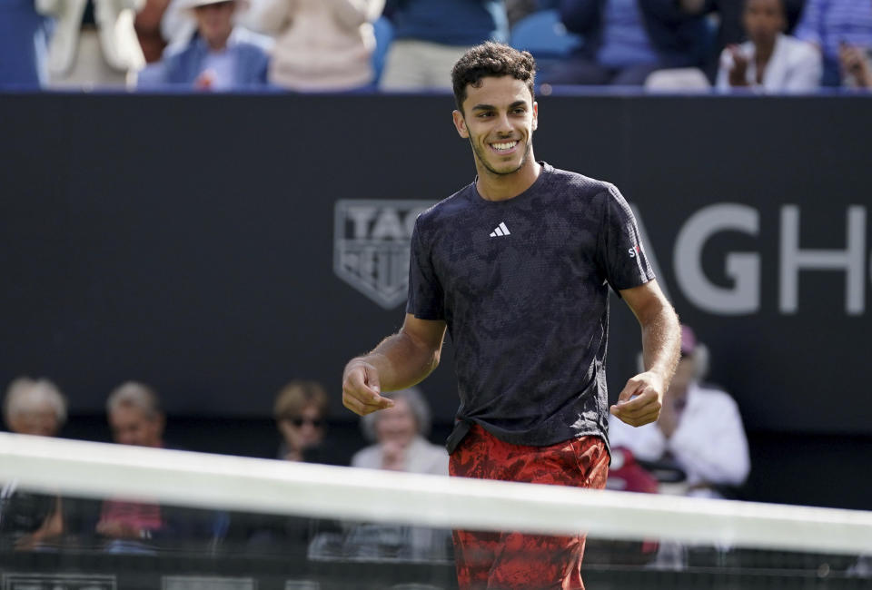
[[[530,159],[538,105],[527,84],[512,76],[485,77],[467,86],[463,112],[454,111],[454,125],[468,138],[476,162],[494,175],[518,172]]]

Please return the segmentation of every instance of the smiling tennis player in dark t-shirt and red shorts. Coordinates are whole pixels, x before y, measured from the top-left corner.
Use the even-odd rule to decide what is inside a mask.
[[[343,404],[391,407],[381,392],[435,369],[447,329],[461,400],[451,475],[604,487],[609,411],[658,418],[679,321],[617,188],[536,162],[534,71],[529,53],[493,43],[455,64],[454,124],[478,177],[416,221],[405,321],[346,365]],[[645,361],[611,408],[609,287],[639,319]],[[583,587],[583,535],[457,531],[454,543],[461,588]]]

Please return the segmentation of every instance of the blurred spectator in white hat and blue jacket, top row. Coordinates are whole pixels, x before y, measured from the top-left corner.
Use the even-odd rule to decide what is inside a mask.
[[[185,0],[197,33],[139,74],[139,88],[175,84],[203,91],[229,91],[266,84],[266,42],[233,25],[239,0]]]

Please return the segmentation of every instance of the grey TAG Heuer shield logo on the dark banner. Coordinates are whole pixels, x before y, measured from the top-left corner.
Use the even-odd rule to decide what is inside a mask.
[[[415,218],[432,201],[336,202],[333,271],[354,289],[391,310],[406,300],[409,240]]]

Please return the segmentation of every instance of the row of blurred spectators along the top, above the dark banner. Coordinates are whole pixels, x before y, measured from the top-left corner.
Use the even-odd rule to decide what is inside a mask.
[[[445,91],[487,40],[552,87],[872,88],[872,0],[23,0],[0,89]]]

